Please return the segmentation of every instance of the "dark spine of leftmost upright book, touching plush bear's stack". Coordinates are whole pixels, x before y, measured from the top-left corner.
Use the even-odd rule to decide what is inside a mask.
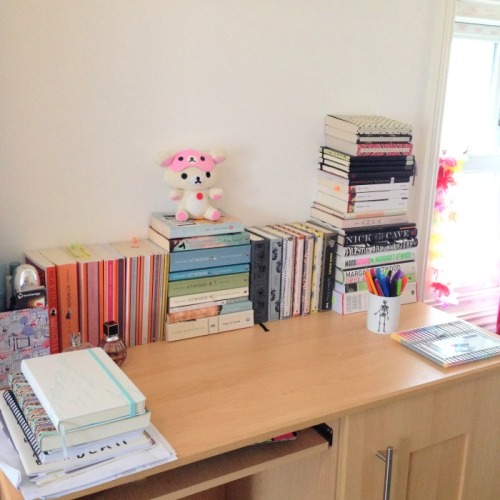
[[[269,250],[270,242],[265,238],[251,239],[251,265],[249,296],[253,304],[255,323],[269,319]]]

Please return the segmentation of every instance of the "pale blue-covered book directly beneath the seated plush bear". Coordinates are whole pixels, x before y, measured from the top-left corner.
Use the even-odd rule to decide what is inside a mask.
[[[155,212],[151,214],[150,226],[167,238],[188,238],[215,234],[239,233],[244,230],[243,222],[232,215],[224,214],[217,221],[206,219],[179,222],[174,214]]]

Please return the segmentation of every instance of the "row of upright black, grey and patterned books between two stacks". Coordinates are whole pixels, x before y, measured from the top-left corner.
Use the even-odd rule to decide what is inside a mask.
[[[332,308],[337,232],[314,222],[249,227],[252,267],[259,270],[260,322]]]

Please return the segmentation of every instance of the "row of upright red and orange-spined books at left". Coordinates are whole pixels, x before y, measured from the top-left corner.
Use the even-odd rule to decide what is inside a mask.
[[[51,353],[76,332],[99,345],[107,321],[127,346],[162,340],[168,258],[149,240],[26,251],[47,288]]]

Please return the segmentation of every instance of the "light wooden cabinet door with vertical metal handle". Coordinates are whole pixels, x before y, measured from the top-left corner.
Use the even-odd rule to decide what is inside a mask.
[[[407,397],[341,421],[337,500],[500,498],[500,374]],[[387,497],[386,497],[387,498]]]

